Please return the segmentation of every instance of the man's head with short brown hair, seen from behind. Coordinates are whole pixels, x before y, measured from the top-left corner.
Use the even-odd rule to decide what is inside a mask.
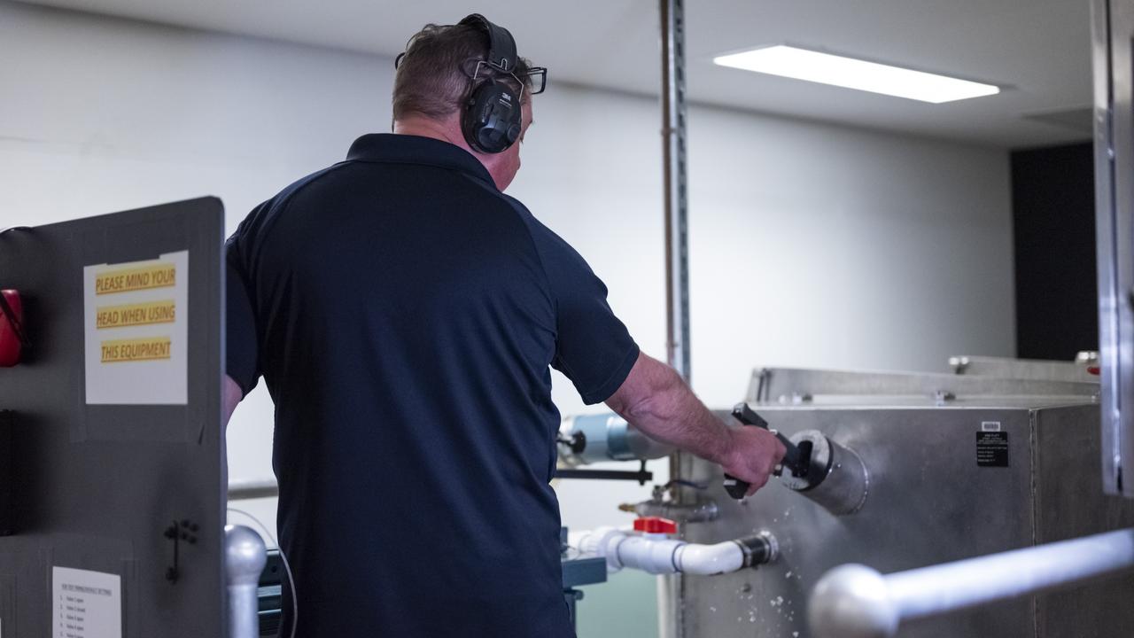
[[[396,133],[439,137],[462,146],[481,160],[497,186],[503,190],[519,169],[518,142],[523,141],[532,123],[532,78],[539,78],[539,92],[543,84],[542,69],[533,69],[527,60],[518,56],[510,56],[515,59],[506,60],[503,65],[488,64],[500,62],[508,57],[506,51],[515,51],[515,44],[507,31],[479,16],[479,19],[472,18],[474,16],[457,25],[426,25],[409,40],[406,52],[399,57],[393,81],[393,129]],[[496,30],[491,39],[490,30]],[[490,45],[494,56],[492,60]],[[476,117],[466,117],[474,95],[489,93],[486,85],[506,89],[521,102],[517,143],[508,144],[503,140],[500,145],[507,148],[500,152],[485,152],[485,145],[475,135],[483,128],[475,125],[479,121]],[[481,90],[480,93],[477,90]],[[464,126],[463,119],[466,120]]]

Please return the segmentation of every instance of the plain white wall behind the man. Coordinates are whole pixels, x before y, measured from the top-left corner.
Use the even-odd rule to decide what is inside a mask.
[[[389,131],[387,58],[0,1],[0,226],[214,194],[231,230],[355,136]],[[655,100],[552,84],[535,119],[513,194],[663,358]],[[693,377],[708,403],[739,400],[755,364],[1014,353],[1005,151],[700,107],[689,123]],[[584,410],[559,376],[555,397]],[[271,418],[263,389],[237,411],[232,478],[270,476]],[[624,521],[613,505],[645,496],[560,486],[574,527]]]

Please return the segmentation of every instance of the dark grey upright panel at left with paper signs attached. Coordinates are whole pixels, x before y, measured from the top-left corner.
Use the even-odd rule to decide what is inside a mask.
[[[117,573],[126,638],[223,636],[220,428],[223,211],[209,198],[0,236],[0,282],[26,295],[34,344],[0,369],[14,411],[16,536],[0,538],[3,638],[50,635],[51,566]],[[86,405],[83,267],[189,251],[188,404]],[[198,527],[166,579],[174,521]],[[12,608],[6,584],[15,582]],[[9,622],[11,621],[11,622]]]

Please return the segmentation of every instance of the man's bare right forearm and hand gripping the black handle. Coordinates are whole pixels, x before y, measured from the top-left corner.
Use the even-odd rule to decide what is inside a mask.
[[[747,481],[752,494],[784,457],[784,445],[762,428],[729,428],[669,366],[640,354],[607,405],[650,438],[712,461]]]

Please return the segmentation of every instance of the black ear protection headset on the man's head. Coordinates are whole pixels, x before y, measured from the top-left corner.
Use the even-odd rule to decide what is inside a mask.
[[[486,79],[473,89],[460,115],[460,131],[468,145],[482,153],[500,153],[516,143],[521,133],[521,95],[503,82],[492,77],[493,72],[513,74],[516,69],[516,41],[507,28],[497,26],[480,14],[473,14],[457,24],[483,28],[489,35],[489,57],[476,62],[473,82],[479,79],[482,67],[488,66]]]

